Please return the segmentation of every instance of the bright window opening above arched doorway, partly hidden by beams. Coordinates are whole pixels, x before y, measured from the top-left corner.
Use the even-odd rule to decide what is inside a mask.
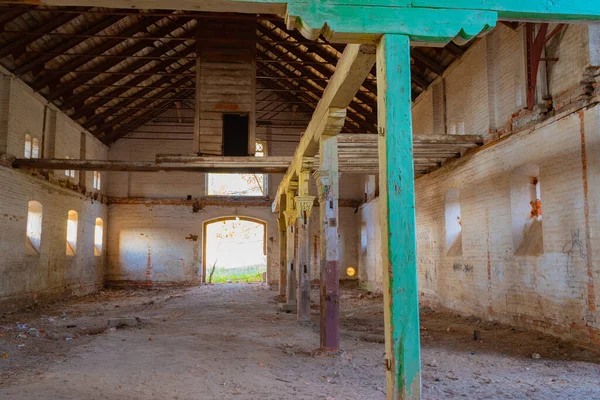
[[[255,156],[267,155],[266,142],[257,141]],[[267,196],[267,174],[208,173],[206,193],[209,196]]]

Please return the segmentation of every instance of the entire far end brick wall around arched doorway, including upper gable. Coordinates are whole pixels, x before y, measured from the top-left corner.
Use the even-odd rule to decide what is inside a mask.
[[[186,116],[186,112],[182,116]],[[173,119],[176,113],[169,111],[158,121]],[[283,112],[277,119],[307,121],[306,115]],[[152,161],[157,154],[189,154],[193,147],[190,124],[173,122],[169,127],[160,126],[161,122],[148,124],[128,134],[110,148],[108,157],[112,160]],[[274,122],[274,124],[277,124]],[[178,126],[173,126],[178,125]],[[178,140],[172,140],[173,134],[183,132]],[[259,140],[268,140],[269,155],[292,156],[301,128],[272,127],[257,128]],[[154,139],[149,139],[150,137]],[[160,140],[155,140],[155,139]],[[109,273],[108,279],[117,281],[135,281],[137,284],[152,282],[194,284],[200,279],[202,270],[202,230],[203,223],[218,217],[239,215],[258,218],[267,223],[268,280],[277,283],[279,279],[279,246],[277,218],[272,213],[273,201],[282,174],[269,174],[269,200],[262,207],[245,206],[207,206],[197,214],[192,214],[190,204],[185,201],[187,195],[192,198],[210,199],[205,191],[205,174],[202,172],[111,172],[107,194],[113,198],[140,197],[151,204],[160,199],[178,199],[180,204],[161,204],[154,206],[111,204],[109,205]],[[340,178],[340,198],[343,200],[361,200],[363,198],[360,176],[343,174]],[[316,193],[313,180],[311,193]],[[214,202],[213,202],[214,204]],[[318,240],[319,210],[313,208],[311,216],[311,255],[313,278],[319,277],[319,254],[314,255],[315,236]],[[340,207],[340,276],[345,277],[349,266],[358,264],[356,251],[357,214],[352,207]],[[131,233],[135,232],[135,233]],[[197,235],[196,241],[186,239]],[[273,238],[274,241],[271,241]],[[135,245],[134,245],[134,244]],[[150,249],[150,257],[148,257]],[[315,262],[316,260],[316,262]],[[150,268],[148,268],[150,265]],[[148,275],[147,271],[150,271]]]

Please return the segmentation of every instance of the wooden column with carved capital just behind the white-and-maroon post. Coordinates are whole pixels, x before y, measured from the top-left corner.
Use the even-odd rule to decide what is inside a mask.
[[[298,177],[298,196],[294,199],[298,219],[296,229],[298,233],[296,276],[298,279],[298,322],[310,322],[310,212],[315,196],[309,195],[310,172],[312,163],[303,168]]]

